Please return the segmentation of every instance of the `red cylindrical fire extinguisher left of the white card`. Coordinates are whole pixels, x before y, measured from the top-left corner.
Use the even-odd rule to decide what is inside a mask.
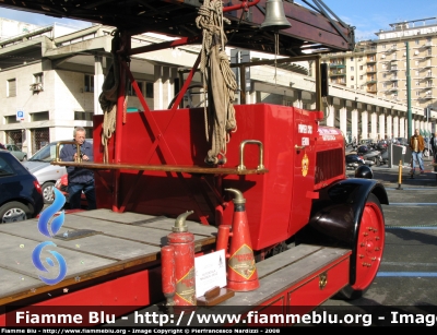
[[[174,266],[175,266],[175,279],[176,292],[174,296],[175,306],[196,306],[196,276],[194,276],[194,235],[188,231],[186,218],[193,212],[186,212],[176,218],[173,232],[167,236],[168,244],[173,248],[174,252]],[[165,247],[164,247],[165,248]],[[172,279],[168,278],[169,274],[173,274],[172,258],[168,256],[168,252],[172,249],[165,251],[166,256],[163,259],[163,289],[164,294],[168,294],[172,287]]]

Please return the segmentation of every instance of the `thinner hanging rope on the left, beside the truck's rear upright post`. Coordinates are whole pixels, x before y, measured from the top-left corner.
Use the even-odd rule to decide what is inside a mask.
[[[103,161],[108,163],[108,141],[116,131],[117,118],[117,99],[118,86],[120,83],[120,67],[118,63],[118,56],[115,50],[119,47],[119,34],[116,29],[113,32],[113,63],[106,74],[105,81],[102,85],[102,94],[98,97],[102,110],[104,112],[103,127],[102,127],[102,144],[104,147]]]

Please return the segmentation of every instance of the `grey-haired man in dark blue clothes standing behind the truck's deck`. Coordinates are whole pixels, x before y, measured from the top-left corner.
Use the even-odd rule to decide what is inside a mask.
[[[85,141],[85,129],[76,127],[73,131],[73,137],[80,144],[82,160],[93,161],[93,146]],[[78,146],[75,144],[64,144],[59,157],[63,161],[75,161],[78,157]],[[87,210],[96,208],[96,195],[94,187],[94,172],[91,169],[69,166],[68,174],[68,193],[70,200],[70,208],[81,208],[82,191],[85,193]]]

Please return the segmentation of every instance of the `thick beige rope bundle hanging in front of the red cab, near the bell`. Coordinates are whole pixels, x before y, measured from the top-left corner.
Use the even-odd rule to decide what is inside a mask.
[[[223,29],[224,22],[231,24],[223,16],[222,1],[205,0],[199,9],[196,24],[202,29],[203,36],[200,71],[205,101],[209,93],[203,112],[206,141],[211,137],[212,143],[205,161],[213,165],[218,164],[218,155],[223,160],[226,159],[228,134],[236,131],[237,127],[233,105],[237,83],[225,52],[227,38]]]

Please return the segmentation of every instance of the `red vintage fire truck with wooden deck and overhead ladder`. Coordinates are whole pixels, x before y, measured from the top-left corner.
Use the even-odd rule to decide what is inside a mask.
[[[206,254],[216,250],[217,228],[232,226],[241,203],[259,288],[243,289],[223,303],[247,306],[248,310],[274,306],[287,312],[293,306],[314,308],[338,294],[356,298],[371,285],[385,247],[381,204],[388,204],[388,198],[376,180],[346,178],[344,139],[340,130],[320,125],[327,83],[319,53],[351,50],[353,28],[320,0],[314,0],[310,9],[293,1],[226,1],[223,9],[218,7],[223,12],[218,17],[227,22],[222,33],[227,36],[227,46],[288,57],[236,64],[241,82],[245,69],[251,65],[314,60],[316,110],[246,105],[245,92],[240,93],[243,104],[236,106],[223,103],[223,95],[213,97],[217,83],[223,83],[217,82],[214,71],[228,60],[202,67],[214,48],[223,51],[223,39],[215,45],[212,39],[212,48],[202,49],[204,55],[199,55],[186,76],[180,72],[180,92],[168,109],[150,110],[130,71],[130,57],[203,45],[208,28],[200,29],[197,17],[210,2],[217,1],[0,3],[117,28],[113,82],[105,82],[101,96],[105,115],[94,116],[94,161],[54,163],[95,170],[98,210],[66,215],[64,232],[56,240],[69,266],[60,283],[45,285],[35,272],[0,264],[7,270],[7,280],[13,280],[14,274],[23,278],[0,296],[1,324],[7,322],[8,312],[23,306],[130,307],[122,311],[126,313],[160,303],[164,300],[161,248],[166,246],[175,218],[192,211],[186,215],[186,225],[193,234],[193,252]],[[179,39],[131,48],[131,37],[146,32]],[[305,53],[306,49],[314,53]],[[206,71],[202,73],[208,108],[184,108],[184,94],[199,64]],[[127,113],[126,83],[132,84],[143,110]],[[223,109],[226,118],[229,113],[233,117],[231,131],[223,130],[223,122],[228,121],[222,118]],[[114,132],[102,141],[110,118]],[[234,199],[238,192],[240,202]],[[23,223],[21,228],[3,226],[3,238],[8,236],[20,246],[44,240],[32,232],[35,220]]]

